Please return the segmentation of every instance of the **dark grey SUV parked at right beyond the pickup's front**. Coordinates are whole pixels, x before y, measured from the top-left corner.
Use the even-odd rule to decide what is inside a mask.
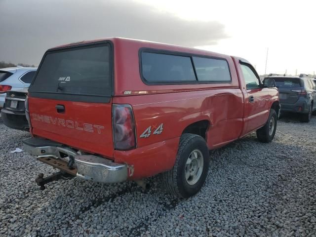
[[[309,122],[316,111],[316,84],[313,79],[300,76],[272,76],[279,90],[282,112],[301,114],[302,122]]]

